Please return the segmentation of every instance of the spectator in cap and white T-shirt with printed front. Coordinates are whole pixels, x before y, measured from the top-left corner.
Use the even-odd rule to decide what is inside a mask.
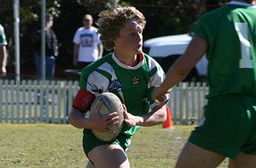
[[[88,64],[102,58],[103,47],[96,27],[92,26],[93,18],[85,14],[84,26],[80,27],[73,37],[73,65],[82,70]]]

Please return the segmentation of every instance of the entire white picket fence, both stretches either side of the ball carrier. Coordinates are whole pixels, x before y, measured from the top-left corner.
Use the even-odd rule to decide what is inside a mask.
[[[0,80],[0,123],[66,124],[78,89],[78,81]],[[167,104],[174,124],[200,120],[207,92],[206,83],[200,82],[174,87]]]

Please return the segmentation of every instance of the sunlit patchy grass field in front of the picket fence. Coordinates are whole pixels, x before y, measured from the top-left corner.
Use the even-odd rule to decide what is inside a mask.
[[[127,154],[131,168],[172,168],[194,126],[143,127]],[[0,167],[82,168],[82,130],[70,125],[0,124]],[[227,167],[226,161],[218,166]]]

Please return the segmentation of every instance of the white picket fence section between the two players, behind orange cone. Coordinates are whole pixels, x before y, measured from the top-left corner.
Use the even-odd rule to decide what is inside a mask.
[[[174,125],[191,125],[200,121],[207,104],[207,93],[207,82],[180,82],[174,87],[167,104]]]

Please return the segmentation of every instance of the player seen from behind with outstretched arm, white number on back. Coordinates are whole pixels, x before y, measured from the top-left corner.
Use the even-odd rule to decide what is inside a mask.
[[[172,65],[153,98],[170,92],[207,53],[209,94],[205,119],[185,144],[177,168],[256,167],[256,7],[230,1],[204,14],[189,47]]]

